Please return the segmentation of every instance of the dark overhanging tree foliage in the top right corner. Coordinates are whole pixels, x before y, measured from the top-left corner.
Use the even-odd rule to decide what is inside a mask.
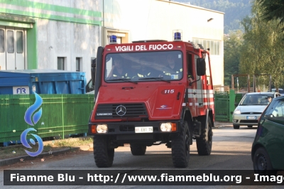
[[[282,31],[284,31],[284,1],[256,0],[256,3],[263,8],[263,18],[266,21],[279,21],[279,24],[283,25]]]

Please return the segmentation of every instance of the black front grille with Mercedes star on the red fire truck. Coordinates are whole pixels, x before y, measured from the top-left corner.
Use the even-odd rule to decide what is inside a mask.
[[[119,112],[119,110],[121,110],[121,112]],[[117,114],[116,112],[119,112],[119,114]],[[145,104],[99,104],[97,107],[95,118],[96,119],[148,118],[148,113],[146,111]]]

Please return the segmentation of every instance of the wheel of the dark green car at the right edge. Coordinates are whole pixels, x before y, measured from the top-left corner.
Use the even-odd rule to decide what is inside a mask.
[[[264,148],[258,148],[253,156],[253,170],[259,175],[276,175],[277,170],[273,170],[271,159]]]

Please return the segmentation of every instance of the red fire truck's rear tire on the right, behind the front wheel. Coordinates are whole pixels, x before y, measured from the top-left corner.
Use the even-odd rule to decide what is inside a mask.
[[[212,123],[208,119],[207,129],[201,129],[201,135],[196,139],[198,155],[209,156],[212,150]]]

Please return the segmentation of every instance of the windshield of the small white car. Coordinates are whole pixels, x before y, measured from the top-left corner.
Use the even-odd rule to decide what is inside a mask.
[[[240,105],[267,105],[273,99],[273,95],[246,95]]]

